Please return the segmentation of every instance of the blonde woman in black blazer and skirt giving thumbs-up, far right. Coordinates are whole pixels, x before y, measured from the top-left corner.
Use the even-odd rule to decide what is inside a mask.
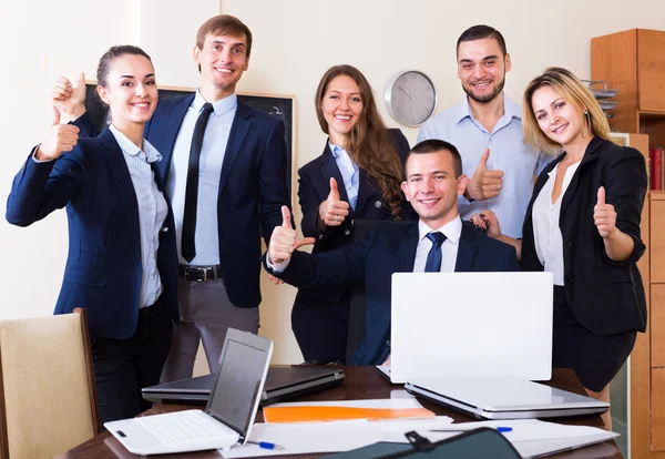
[[[473,220],[515,245],[524,271],[553,273],[552,365],[573,368],[590,395],[608,401],[610,380],[646,327],[636,266],[645,248],[644,157],[608,140],[605,114],[567,70],[551,68],[534,79],[523,110],[525,141],[564,152],[535,183],[521,242],[502,236],[491,212]]]

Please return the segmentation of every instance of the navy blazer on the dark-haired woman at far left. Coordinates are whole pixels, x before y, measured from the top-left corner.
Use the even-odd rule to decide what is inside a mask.
[[[166,194],[160,174],[154,175]],[[111,131],[80,139],[72,152],[55,161],[37,163],[31,154],[13,181],[7,220],[28,226],[65,206],[69,254],[54,314],[82,307],[88,309],[91,335],[129,338],[136,330],[143,269],[139,207],[130,171]],[[178,323],[171,205],[164,228],[157,252],[161,298]]]

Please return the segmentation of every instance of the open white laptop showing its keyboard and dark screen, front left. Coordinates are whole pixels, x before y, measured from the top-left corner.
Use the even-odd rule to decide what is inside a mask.
[[[205,411],[192,409],[105,422],[135,455],[231,448],[245,443],[263,392],[273,341],[229,328]]]

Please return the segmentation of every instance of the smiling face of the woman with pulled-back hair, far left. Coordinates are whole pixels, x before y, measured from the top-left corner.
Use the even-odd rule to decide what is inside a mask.
[[[105,81],[98,93],[109,105],[114,126],[123,131],[150,120],[157,105],[155,70],[150,60],[140,54],[120,55],[111,61]]]

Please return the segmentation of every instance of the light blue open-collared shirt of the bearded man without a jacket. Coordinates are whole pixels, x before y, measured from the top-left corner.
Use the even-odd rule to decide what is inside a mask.
[[[489,132],[473,118],[469,102],[454,105],[422,125],[418,142],[440,139],[452,143],[462,156],[462,169],[471,178],[485,149],[490,149],[489,170],[503,171],[501,194],[491,200],[470,203],[460,196],[462,220],[485,210],[497,214],[501,232],[511,237],[522,237],[522,224],[533,191],[534,174],[554,159],[539,153],[522,142],[522,111],[520,105],[503,94],[503,116]]]

